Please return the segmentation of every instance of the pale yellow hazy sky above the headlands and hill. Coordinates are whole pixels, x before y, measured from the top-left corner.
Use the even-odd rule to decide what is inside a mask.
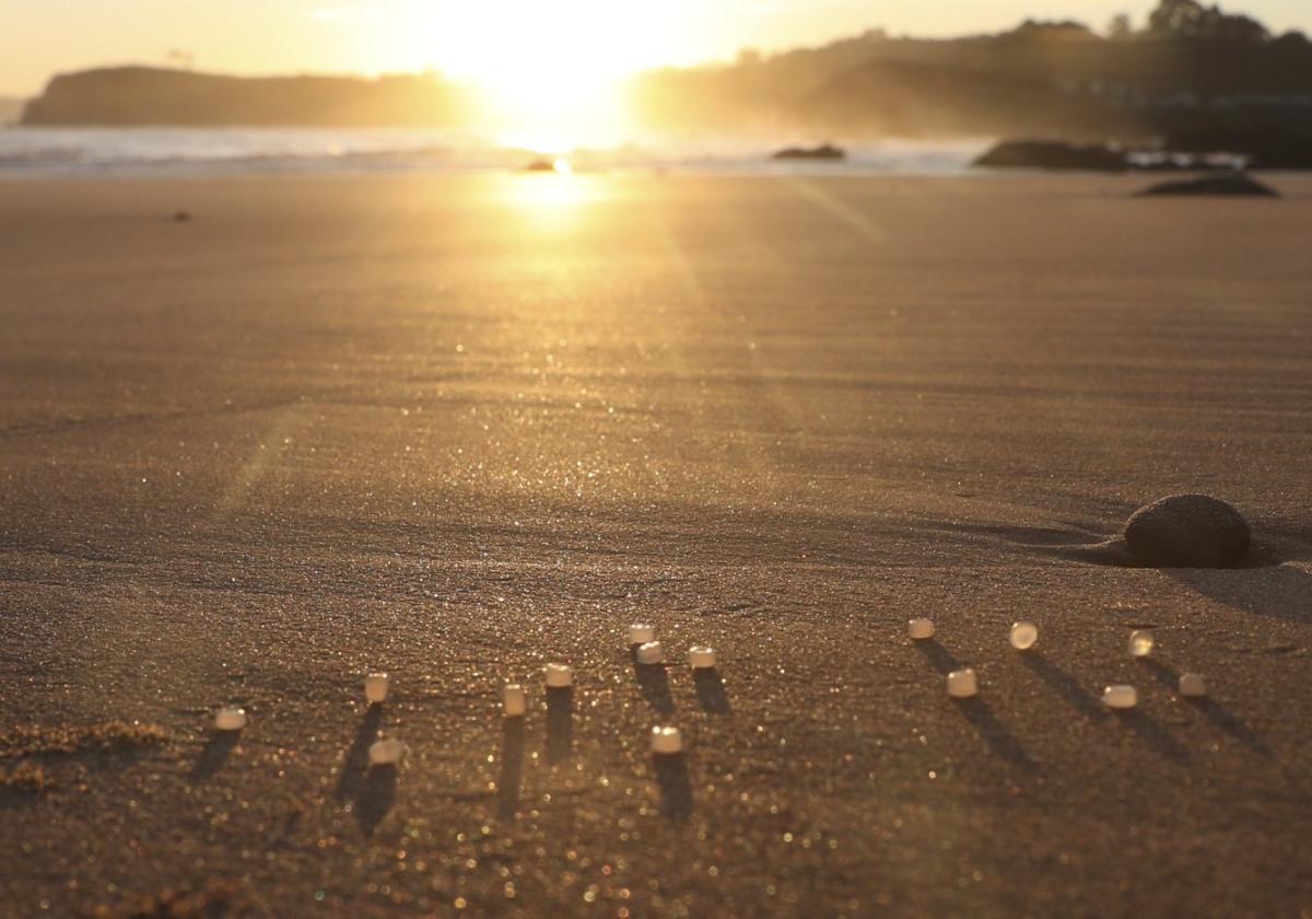
[[[872,26],[922,35],[997,30],[1026,16],[1102,26],[1153,0],[0,0],[0,93],[59,71],[167,63],[232,72],[436,67],[484,80],[499,62],[613,74],[817,43]],[[1312,30],[1312,0],[1223,4]]]

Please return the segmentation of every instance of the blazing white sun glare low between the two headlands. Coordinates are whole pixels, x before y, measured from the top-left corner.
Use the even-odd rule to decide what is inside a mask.
[[[659,7],[413,0],[404,41],[429,42],[424,59],[479,88],[500,142],[559,154],[625,139],[623,80],[668,53]]]

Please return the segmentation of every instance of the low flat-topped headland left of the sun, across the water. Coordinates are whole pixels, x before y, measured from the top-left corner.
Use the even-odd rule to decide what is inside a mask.
[[[24,125],[450,126],[459,88],[436,76],[244,79],[151,67],[54,77]]]

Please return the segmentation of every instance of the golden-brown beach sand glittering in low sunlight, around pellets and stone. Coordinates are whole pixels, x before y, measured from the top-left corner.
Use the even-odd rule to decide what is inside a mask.
[[[1312,910],[1312,180],[1141,184],[0,184],[0,911]]]

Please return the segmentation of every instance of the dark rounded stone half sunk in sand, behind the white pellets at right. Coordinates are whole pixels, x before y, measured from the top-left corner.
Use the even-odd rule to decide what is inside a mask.
[[[1126,523],[1130,554],[1161,568],[1228,568],[1244,561],[1249,545],[1244,516],[1207,495],[1162,498]]]

